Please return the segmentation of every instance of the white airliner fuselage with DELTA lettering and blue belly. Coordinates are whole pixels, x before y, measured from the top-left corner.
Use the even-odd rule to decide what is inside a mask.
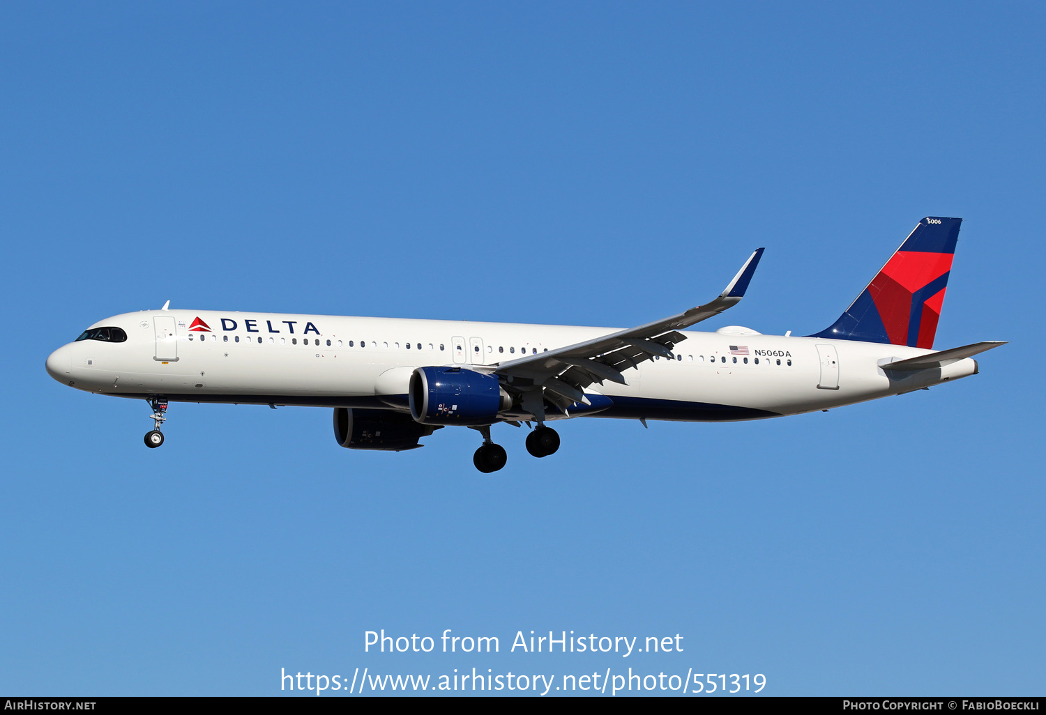
[[[196,321],[209,330],[190,330]],[[614,331],[213,310],[145,310],[95,326],[122,328],[127,340],[81,340],[59,348],[47,360],[55,379],[123,397],[377,409],[403,409],[416,367],[494,365]],[[899,345],[736,331],[683,335],[676,360],[658,358],[626,370],[628,386],[593,385],[588,392],[614,401],[593,415],[695,421],[791,415],[977,372],[972,359],[912,373],[884,371],[880,366],[890,360],[931,352]]]

